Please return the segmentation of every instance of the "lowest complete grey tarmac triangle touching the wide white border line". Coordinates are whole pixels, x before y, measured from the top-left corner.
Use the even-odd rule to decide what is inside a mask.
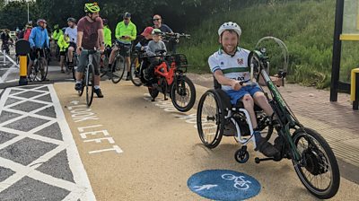
[[[51,175],[57,179],[64,179],[74,183],[74,175],[68,165],[66,150],[57,153],[57,155],[48,160],[48,162],[43,163],[36,170]]]

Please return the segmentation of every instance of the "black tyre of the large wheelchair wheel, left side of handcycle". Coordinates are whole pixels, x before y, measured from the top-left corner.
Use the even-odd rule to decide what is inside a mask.
[[[207,140],[205,139],[206,136],[204,134],[203,131],[203,126],[202,123],[206,123],[203,122],[203,119],[206,119],[206,121],[208,120],[209,117],[202,117],[202,113],[203,113],[203,107],[204,107],[204,103],[205,100],[207,98],[207,96],[212,96],[215,100],[215,105],[216,105],[216,112],[215,112],[215,125],[216,125],[216,131],[215,131],[215,136],[214,139],[211,142],[207,142]],[[223,137],[223,128],[224,128],[224,114],[223,114],[223,109],[222,109],[222,103],[219,100],[219,96],[217,95],[217,93],[215,92],[215,90],[208,90],[205,92],[205,94],[202,95],[201,99],[198,102],[198,107],[197,107],[197,131],[198,131],[198,135],[199,135],[199,139],[202,141],[203,144],[205,144],[206,147],[213,149],[215,148],[218,144],[220,144],[222,137]]]

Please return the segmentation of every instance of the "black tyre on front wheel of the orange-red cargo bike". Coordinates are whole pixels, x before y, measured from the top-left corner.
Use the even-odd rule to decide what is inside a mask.
[[[188,84],[189,91],[187,90],[186,83]],[[182,84],[185,84],[185,86],[182,86]],[[180,96],[180,98],[186,98],[186,97],[181,97],[180,95],[180,93],[183,93],[181,92],[183,90],[182,88],[185,88],[184,90],[186,91],[185,92],[186,94],[188,94],[188,92],[190,93],[188,103],[183,106],[181,106],[176,99],[176,97],[178,96]],[[173,103],[173,106],[181,112],[185,112],[188,111],[189,109],[192,109],[193,105],[195,104],[196,101],[195,84],[193,84],[192,81],[186,75],[179,76],[178,79],[175,80],[175,83],[171,84],[171,101]]]

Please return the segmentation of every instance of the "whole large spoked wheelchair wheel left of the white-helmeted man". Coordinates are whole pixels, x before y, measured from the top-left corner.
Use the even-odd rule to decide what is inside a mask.
[[[224,115],[222,103],[215,90],[208,90],[202,95],[197,109],[197,131],[206,147],[215,148],[222,139]]]

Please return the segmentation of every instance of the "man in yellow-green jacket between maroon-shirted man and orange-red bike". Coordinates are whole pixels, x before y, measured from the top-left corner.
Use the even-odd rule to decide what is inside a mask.
[[[111,69],[112,62],[115,58],[116,52],[120,47],[123,47],[124,49],[122,52],[124,53],[126,66],[127,66],[127,78],[126,80],[130,80],[130,51],[131,51],[131,42],[136,39],[136,25],[131,22],[131,14],[125,13],[123,16],[123,21],[118,22],[118,25],[116,26],[116,45],[114,48],[112,48],[111,54],[109,55],[109,69]]]

